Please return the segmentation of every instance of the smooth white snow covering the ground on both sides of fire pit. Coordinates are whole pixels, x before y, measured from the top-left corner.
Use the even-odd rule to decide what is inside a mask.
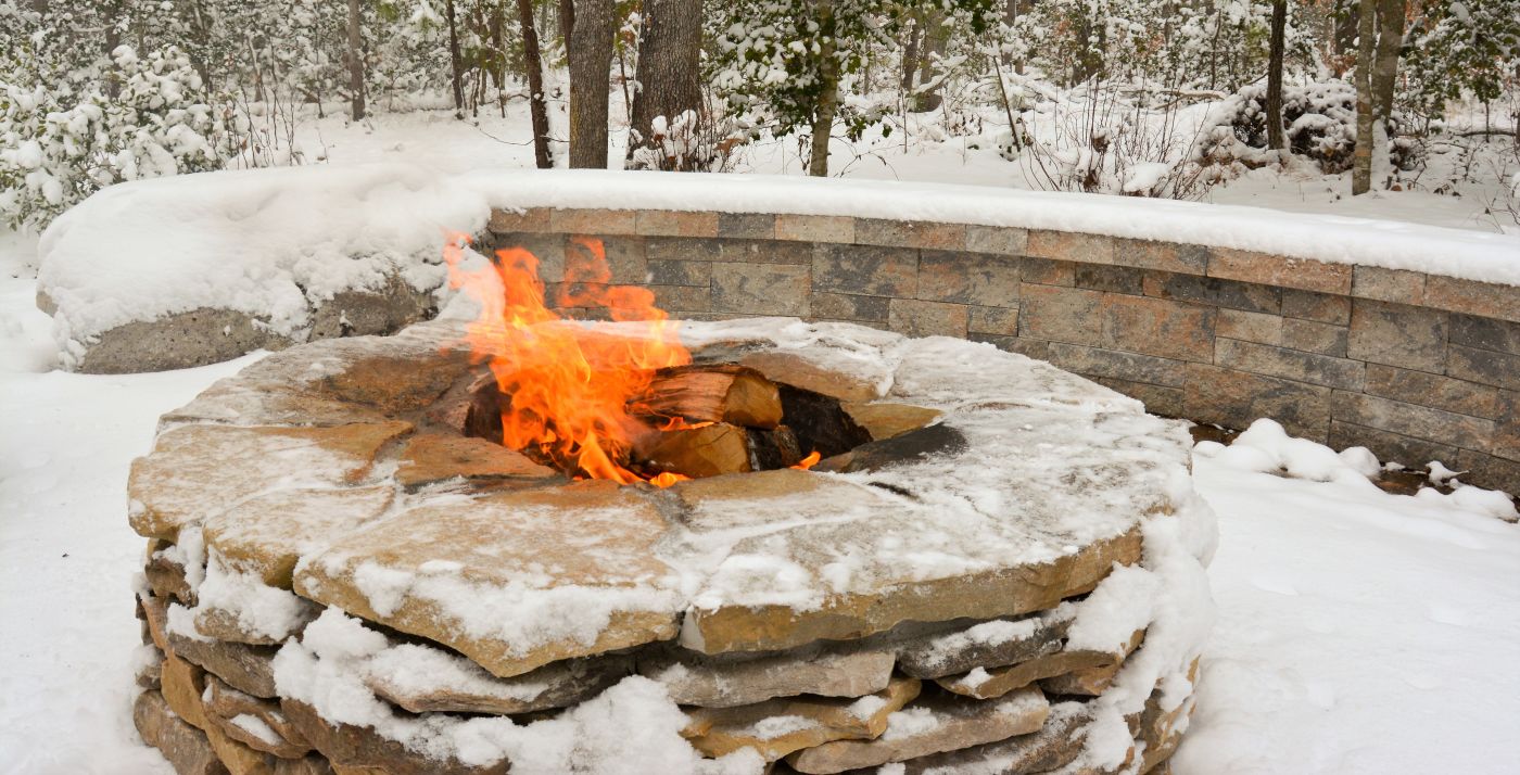
[[[161,412],[258,356],[49,371],[17,252],[0,245],[0,772],[167,773],[131,725],[128,465]],[[1357,480],[1366,460],[1271,430],[1196,453],[1219,623],[1176,772],[1517,772],[1520,526],[1482,498],[1385,494]],[[1284,447],[1327,482],[1259,473]]]

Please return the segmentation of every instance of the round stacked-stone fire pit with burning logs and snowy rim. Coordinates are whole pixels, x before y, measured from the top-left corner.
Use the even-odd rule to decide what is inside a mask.
[[[135,720],[179,772],[1170,755],[1211,615],[1183,424],[988,345],[676,325],[584,249],[550,298],[619,322],[508,251],[456,266],[476,321],[163,418]]]

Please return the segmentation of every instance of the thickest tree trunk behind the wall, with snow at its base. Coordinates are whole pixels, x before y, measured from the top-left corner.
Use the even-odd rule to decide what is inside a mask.
[[[638,40],[638,90],[634,93],[634,109],[629,119],[628,158],[638,147],[660,149],[655,141],[654,120],[666,119],[666,126],[692,111],[701,119],[701,53],[702,53],[702,0],[646,0],[644,29]],[[696,131],[693,125],[692,132]],[[695,158],[690,149],[684,158],[673,157],[661,169],[689,170]],[[666,158],[658,150],[660,158]]]

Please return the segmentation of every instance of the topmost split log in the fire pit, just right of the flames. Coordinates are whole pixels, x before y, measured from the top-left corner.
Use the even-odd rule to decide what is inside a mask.
[[[660,369],[644,395],[629,401],[629,409],[689,424],[774,429],[781,422],[781,394],[774,381],[745,366],[676,366]]]

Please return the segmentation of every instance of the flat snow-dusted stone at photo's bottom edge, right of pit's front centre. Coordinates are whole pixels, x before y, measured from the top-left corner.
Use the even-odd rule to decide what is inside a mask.
[[[874,767],[1037,732],[1049,716],[1050,705],[1034,687],[999,702],[936,696],[889,716],[886,731],[876,740],[824,743],[789,755],[786,763],[810,775]],[[900,728],[894,728],[894,720]],[[926,729],[926,723],[932,726]]]

